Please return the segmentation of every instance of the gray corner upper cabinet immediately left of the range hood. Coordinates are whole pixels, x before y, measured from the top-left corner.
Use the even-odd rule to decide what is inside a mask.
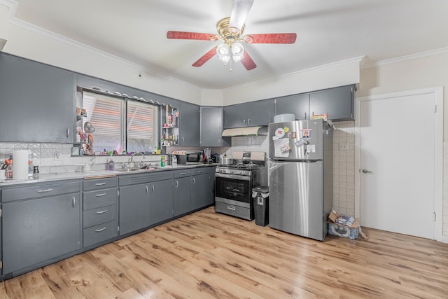
[[[201,107],[201,146],[230,146],[223,133],[223,107]]]

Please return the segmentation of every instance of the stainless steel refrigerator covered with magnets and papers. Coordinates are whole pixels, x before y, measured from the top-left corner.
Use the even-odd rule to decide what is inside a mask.
[[[323,241],[332,207],[332,126],[269,124],[269,226]]]

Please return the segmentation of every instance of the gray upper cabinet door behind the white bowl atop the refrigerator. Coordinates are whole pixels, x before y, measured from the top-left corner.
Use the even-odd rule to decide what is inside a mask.
[[[293,113],[296,120],[309,119],[309,95],[288,95],[275,99],[275,115]]]

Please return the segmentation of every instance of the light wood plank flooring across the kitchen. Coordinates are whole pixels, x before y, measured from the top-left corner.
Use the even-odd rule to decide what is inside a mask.
[[[448,244],[297,237],[214,207],[0,283],[0,298],[448,298]]]

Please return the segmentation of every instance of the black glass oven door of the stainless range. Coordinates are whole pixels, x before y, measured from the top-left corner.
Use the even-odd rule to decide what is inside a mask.
[[[235,174],[215,174],[216,197],[236,202],[251,203],[251,177]]]

